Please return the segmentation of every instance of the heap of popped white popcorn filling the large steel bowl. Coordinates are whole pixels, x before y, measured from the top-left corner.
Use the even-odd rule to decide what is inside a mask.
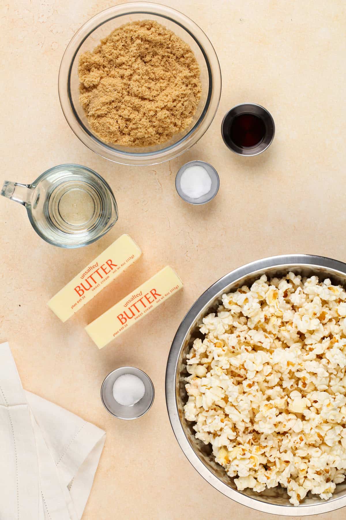
[[[239,491],[328,500],[346,475],[346,292],[289,272],[222,296],[187,355],[184,407]]]

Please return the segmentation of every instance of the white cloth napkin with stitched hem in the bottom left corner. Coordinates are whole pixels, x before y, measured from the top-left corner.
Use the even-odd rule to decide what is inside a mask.
[[[23,390],[0,344],[0,520],[80,520],[105,432]]]

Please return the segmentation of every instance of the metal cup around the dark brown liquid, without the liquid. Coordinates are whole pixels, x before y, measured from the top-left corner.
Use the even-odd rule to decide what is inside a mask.
[[[257,117],[264,122],[266,133],[264,138],[261,139],[257,145],[249,148],[241,148],[230,139],[229,134],[232,122],[234,118],[240,114],[257,115]],[[237,153],[238,155],[247,155],[248,157],[252,157],[253,155],[259,155],[264,152],[271,145],[275,135],[275,123],[270,112],[261,105],[257,105],[256,103],[240,103],[240,105],[236,105],[226,113],[221,123],[221,135],[225,145],[227,148],[232,150],[232,152]]]

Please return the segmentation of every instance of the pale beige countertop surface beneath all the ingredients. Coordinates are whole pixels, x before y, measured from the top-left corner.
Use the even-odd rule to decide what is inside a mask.
[[[344,2],[165,0],[209,36],[223,92],[198,144],[152,167],[98,157],[75,137],[60,109],[58,70],[67,43],[82,23],[115,3],[121,2],[0,6],[0,180],[30,183],[51,166],[84,164],[105,177],[119,206],[118,223],[104,238],[61,250],[36,235],[23,207],[0,200],[0,342],[10,342],[24,388],[107,433],[84,519],[265,520],[268,515],[204,482],[185,458],[165,407],[165,365],[186,311],[226,272],[284,253],[346,261]],[[272,146],[256,158],[237,157],[220,136],[225,112],[244,101],[264,105],[276,124]],[[174,187],[179,166],[192,159],[210,162],[220,176],[217,197],[201,207],[184,203]],[[140,244],[142,259],[61,323],[47,307],[49,298],[122,233]],[[166,264],[184,290],[99,351],[86,324]],[[116,420],[102,406],[102,381],[121,365],[143,369],[155,385],[154,405],[138,421]]]

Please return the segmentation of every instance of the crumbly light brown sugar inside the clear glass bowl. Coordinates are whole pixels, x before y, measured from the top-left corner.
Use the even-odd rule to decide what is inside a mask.
[[[182,132],[202,92],[190,46],[152,20],[122,25],[82,54],[78,76],[92,132],[122,146],[158,145]]]

